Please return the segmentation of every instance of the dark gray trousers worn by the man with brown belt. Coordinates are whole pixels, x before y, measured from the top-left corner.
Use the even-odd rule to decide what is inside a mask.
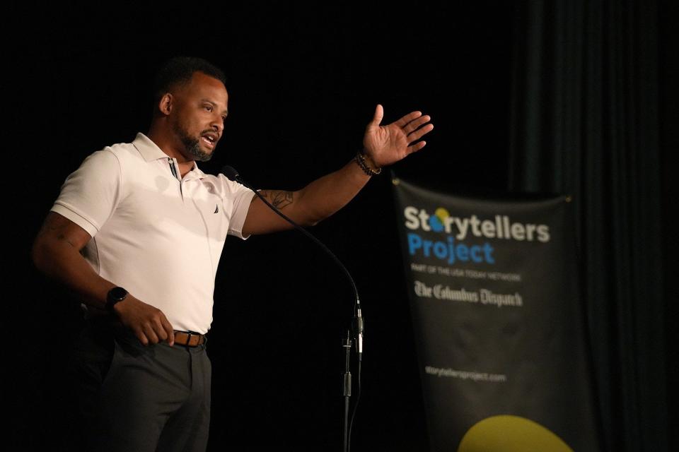
[[[205,451],[211,364],[205,345],[144,346],[128,328],[88,321],[71,364],[90,451]]]

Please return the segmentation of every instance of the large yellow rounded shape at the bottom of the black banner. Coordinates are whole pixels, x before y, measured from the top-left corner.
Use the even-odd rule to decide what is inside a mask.
[[[460,441],[458,452],[573,452],[573,449],[537,422],[504,415],[477,422]]]

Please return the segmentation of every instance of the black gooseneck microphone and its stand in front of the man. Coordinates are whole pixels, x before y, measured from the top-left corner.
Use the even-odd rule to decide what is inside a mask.
[[[344,348],[345,351],[345,359],[344,359],[344,384],[343,384],[343,391],[342,391],[342,396],[344,397],[344,418],[342,421],[342,425],[344,427],[344,441],[343,441],[343,451],[344,452],[349,452],[349,448],[351,447],[350,444],[350,439],[352,435],[352,425],[354,424],[354,416],[356,415],[356,408],[358,407],[359,400],[361,398],[361,362],[363,360],[363,333],[364,333],[364,319],[363,316],[361,315],[361,301],[359,299],[359,290],[356,289],[356,283],[354,283],[354,278],[352,278],[352,275],[349,274],[349,270],[344,266],[342,261],[340,261],[335,254],[330,251],[330,249],[323,244],[323,242],[320,242],[319,239],[314,237],[311,232],[308,232],[306,229],[298,225],[296,222],[288,218],[284,213],[282,213],[278,208],[272,206],[269,201],[266,200],[264,196],[260,194],[259,191],[253,188],[250,184],[245,182],[241,177],[240,174],[234,169],[233,167],[230,166],[224,166],[221,169],[221,174],[224,174],[227,179],[233,181],[233,182],[238,182],[239,184],[248,187],[248,189],[252,190],[255,192],[255,195],[259,197],[263,203],[265,203],[271,210],[273,210],[275,213],[277,213],[280,217],[282,217],[284,220],[289,222],[291,225],[295,227],[296,230],[299,232],[302,232],[306,237],[311,239],[313,242],[318,244],[321,248],[325,250],[327,254],[332,257],[332,260],[337,263],[338,266],[342,269],[344,272],[344,275],[347,276],[347,279],[349,280],[349,283],[352,285],[352,289],[354,290],[354,296],[355,296],[355,301],[354,301],[354,316],[352,318],[352,330],[354,331],[354,337],[356,338],[356,352],[358,356],[358,362],[359,362],[359,391],[358,391],[358,396],[356,396],[356,403],[354,404],[354,412],[352,413],[352,420],[349,423],[349,400],[352,396],[352,374],[351,374],[351,350],[352,350],[352,339],[351,339],[351,333],[347,330],[347,338],[342,339],[342,348]]]

